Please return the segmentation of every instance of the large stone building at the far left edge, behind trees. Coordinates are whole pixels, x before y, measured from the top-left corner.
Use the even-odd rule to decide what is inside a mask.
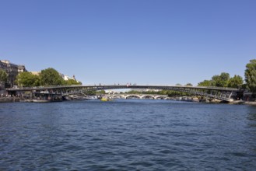
[[[16,76],[19,75],[20,72],[26,72],[25,65],[15,65],[8,60],[0,60],[0,69],[4,70],[8,75],[5,88],[14,86]]]

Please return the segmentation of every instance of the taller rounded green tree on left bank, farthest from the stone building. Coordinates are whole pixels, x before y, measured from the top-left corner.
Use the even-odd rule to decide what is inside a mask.
[[[40,73],[41,86],[58,86],[64,83],[64,79],[54,68],[47,68]]]

